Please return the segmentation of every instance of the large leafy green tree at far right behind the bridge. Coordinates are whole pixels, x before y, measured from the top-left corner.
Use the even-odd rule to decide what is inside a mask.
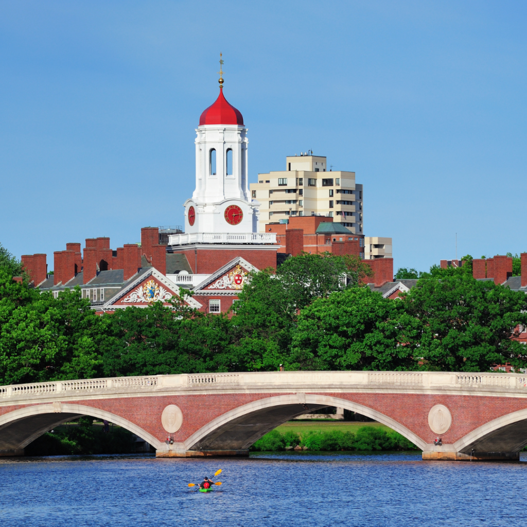
[[[401,321],[405,331],[412,321],[405,342],[424,369],[481,372],[505,362],[525,365],[523,346],[510,338],[516,325],[527,323],[523,292],[475,280],[458,268],[419,280],[402,295],[402,306],[409,315]]]

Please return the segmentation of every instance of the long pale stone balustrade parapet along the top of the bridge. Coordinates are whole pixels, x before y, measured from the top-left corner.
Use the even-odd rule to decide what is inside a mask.
[[[240,372],[103,379],[60,380],[0,386],[0,403],[7,398],[64,398],[79,394],[135,393],[188,390],[245,391],[247,389],[317,391],[506,391],[527,396],[527,375],[451,372]]]

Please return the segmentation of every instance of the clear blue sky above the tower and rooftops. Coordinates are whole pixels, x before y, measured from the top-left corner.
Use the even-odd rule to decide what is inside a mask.
[[[218,93],[250,181],[313,149],[364,184],[394,267],[527,250],[524,2],[0,2],[0,242],[181,225]]]

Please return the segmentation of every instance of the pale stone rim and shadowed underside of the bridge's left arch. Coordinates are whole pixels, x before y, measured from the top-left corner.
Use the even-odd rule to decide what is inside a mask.
[[[166,448],[153,435],[119,415],[93,406],[55,403],[26,406],[0,416],[0,456],[24,455],[24,448],[37,437],[83,415],[90,415],[101,421],[106,419],[119,425],[150,443],[156,450]]]

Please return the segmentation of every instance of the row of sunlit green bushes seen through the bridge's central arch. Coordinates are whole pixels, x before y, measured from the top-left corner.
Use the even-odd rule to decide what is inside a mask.
[[[250,450],[278,452],[295,446],[304,450],[325,452],[418,450],[401,434],[372,426],[361,426],[356,433],[341,430],[310,431],[302,437],[296,432],[281,434],[278,430],[272,430],[253,444]]]

